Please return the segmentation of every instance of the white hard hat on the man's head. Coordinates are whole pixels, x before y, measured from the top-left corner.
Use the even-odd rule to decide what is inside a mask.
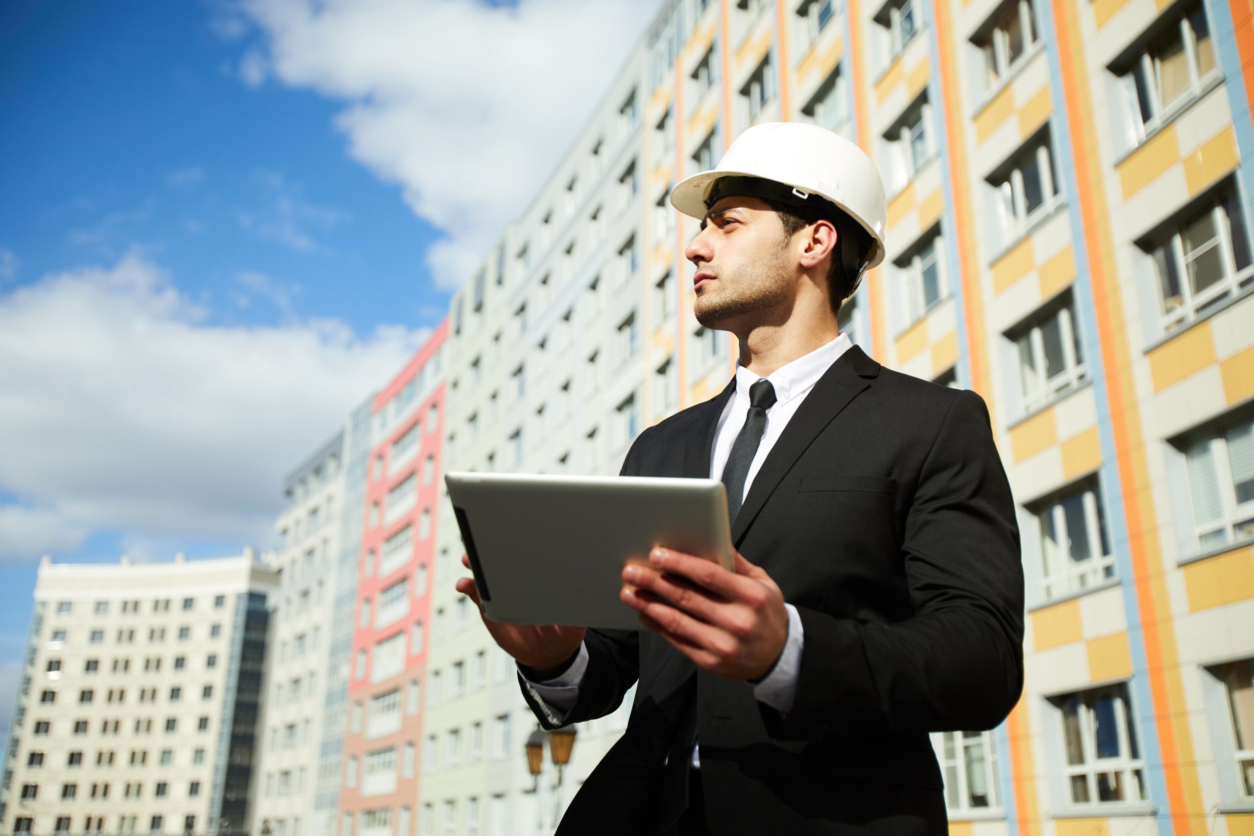
[[[884,261],[884,180],[861,148],[826,128],[803,122],[754,125],[731,143],[717,168],[677,183],[671,191],[671,206],[703,221],[715,201],[729,194],[790,206],[810,206],[811,197],[820,197],[856,221],[872,243],[869,251],[854,258],[861,263],[850,264],[848,254],[843,258],[846,269],[856,271],[851,287],[856,287],[863,269]]]

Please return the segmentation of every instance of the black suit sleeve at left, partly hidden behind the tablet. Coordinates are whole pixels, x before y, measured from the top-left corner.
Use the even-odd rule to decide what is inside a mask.
[[[641,445],[646,444],[647,435],[648,430],[632,444],[619,476],[633,476],[640,473],[640,450]],[[587,668],[578,683],[578,698],[569,711],[548,704],[532,683],[522,673],[518,674],[523,698],[544,728],[552,729],[604,717],[622,704],[623,696],[636,684],[640,677],[638,630],[589,629],[584,635],[581,656],[584,652]]]

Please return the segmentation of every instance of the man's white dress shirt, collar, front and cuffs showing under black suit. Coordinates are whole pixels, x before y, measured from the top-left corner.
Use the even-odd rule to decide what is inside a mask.
[[[727,465],[731,446],[749,414],[749,387],[760,380],[769,380],[775,389],[775,404],[766,410],[766,430],[762,432],[757,452],[754,454],[754,460],[749,465],[749,475],[745,479],[745,496],[747,496],[749,489],[754,484],[754,476],[757,475],[766,456],[770,455],[771,447],[779,441],[789,420],[801,406],[801,401],[805,400],[805,396],[810,394],[810,390],[831,363],[836,362],[851,345],[849,337],[841,333],[831,342],[776,368],[766,377],[755,375],[744,366],[737,366],[736,391],[727,399],[715,429],[714,447],[710,451],[710,478],[722,478],[722,469]],[[784,643],[784,651],[771,672],[761,682],[752,686],[754,697],[775,708],[780,714],[788,714],[796,699],[796,679],[801,669],[801,648],[805,642],[801,617],[798,614],[796,607],[793,604],[784,604],[784,607],[788,609],[788,639]],[[574,662],[561,677],[545,682],[532,682],[525,676],[523,679],[532,694],[553,709],[548,719],[561,723],[579,698],[579,683],[587,669],[588,648],[586,644],[581,644]],[[693,746],[692,766],[698,767],[700,765],[698,746]]]

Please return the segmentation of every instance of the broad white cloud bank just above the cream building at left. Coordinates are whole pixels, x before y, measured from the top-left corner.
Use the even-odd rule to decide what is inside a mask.
[[[102,529],[263,545],[283,475],[424,337],[213,325],[134,254],[0,293],[0,559]]]

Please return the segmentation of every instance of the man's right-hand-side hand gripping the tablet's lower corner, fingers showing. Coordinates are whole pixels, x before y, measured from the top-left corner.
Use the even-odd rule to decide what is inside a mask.
[[[736,570],[670,549],[623,568],[622,599],[641,623],[710,673],[757,681],[788,640],[784,594],[765,570],[736,553]]]

